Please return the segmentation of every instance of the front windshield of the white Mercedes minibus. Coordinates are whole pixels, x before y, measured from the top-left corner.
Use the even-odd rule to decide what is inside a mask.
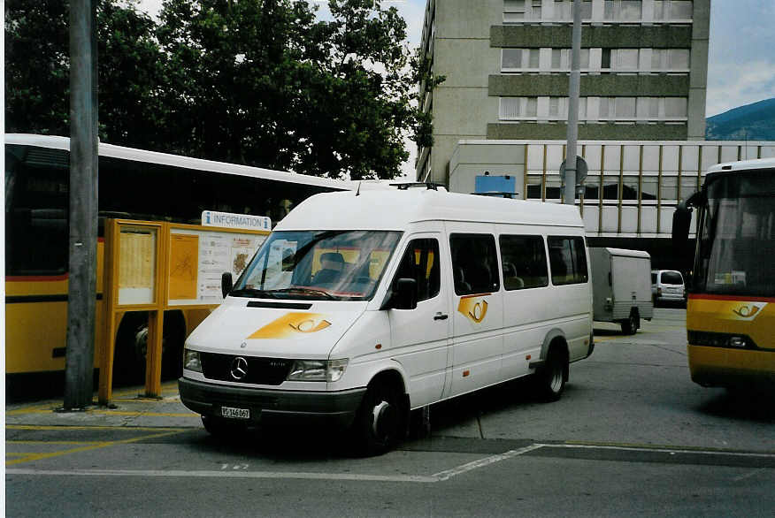
[[[371,300],[401,232],[272,232],[237,280],[236,297]]]

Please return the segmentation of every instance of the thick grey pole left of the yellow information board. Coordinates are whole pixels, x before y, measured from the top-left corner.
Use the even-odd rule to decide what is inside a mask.
[[[97,239],[96,0],[70,2],[70,273],[65,410],[91,404]]]

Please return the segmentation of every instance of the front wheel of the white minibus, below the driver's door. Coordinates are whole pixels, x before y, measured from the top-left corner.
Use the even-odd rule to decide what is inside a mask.
[[[394,385],[372,382],[356,416],[360,453],[379,455],[394,446],[401,431],[401,412],[401,399]]]

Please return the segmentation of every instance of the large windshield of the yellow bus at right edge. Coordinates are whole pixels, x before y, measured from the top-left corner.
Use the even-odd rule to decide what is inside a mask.
[[[694,291],[775,293],[775,170],[723,174],[707,185]]]

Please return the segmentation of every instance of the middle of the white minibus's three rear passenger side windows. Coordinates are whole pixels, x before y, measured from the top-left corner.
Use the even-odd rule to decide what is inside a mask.
[[[541,236],[498,238],[501,245],[503,286],[507,290],[549,286],[546,250]]]

